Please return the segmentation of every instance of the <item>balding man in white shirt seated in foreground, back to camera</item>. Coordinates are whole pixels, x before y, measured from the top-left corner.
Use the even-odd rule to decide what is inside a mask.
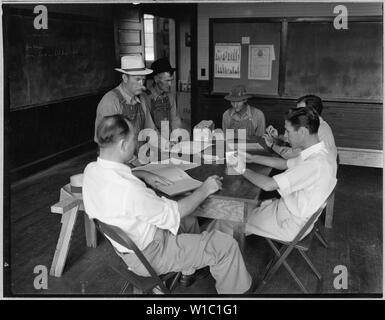
[[[135,136],[123,115],[102,119],[97,127],[100,155],[87,165],[83,180],[83,201],[90,218],[121,228],[142,250],[159,274],[181,271],[192,274],[209,266],[218,293],[244,293],[251,287],[238,243],[220,231],[199,233],[195,208],[222,184],[209,177],[189,196],[173,201],[159,197],[125,165],[134,155]],[[143,178],[146,173],[142,172]],[[178,233],[179,230],[179,233]],[[195,232],[184,233],[184,232]],[[130,270],[148,273],[137,256],[111,240]]]

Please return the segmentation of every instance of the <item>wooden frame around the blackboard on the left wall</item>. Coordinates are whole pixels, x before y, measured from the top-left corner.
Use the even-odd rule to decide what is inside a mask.
[[[12,8],[12,7],[7,7],[7,6],[3,6],[3,34],[5,35],[4,36],[4,88],[7,88],[7,96],[9,97],[10,96],[10,85],[9,85],[9,76],[8,76],[8,72],[9,72],[9,68],[8,68],[8,60],[9,60],[9,52],[10,52],[10,49],[9,49],[9,43],[8,43],[8,39],[6,37],[7,35],[7,32],[9,32],[9,28],[7,28],[7,26],[9,25],[9,19],[11,18],[12,15],[15,15],[15,16],[26,16],[26,17],[35,17],[36,14],[33,13],[33,10],[28,10],[28,9],[24,9],[24,8]],[[93,23],[98,23],[100,25],[105,25],[106,22],[107,23],[110,23],[110,26],[111,26],[111,29],[113,31],[113,18],[111,17],[107,17],[107,18],[102,18],[102,17],[96,17],[96,16],[84,16],[84,15],[80,15],[80,14],[73,14],[73,13],[60,13],[60,12],[49,12],[48,13],[48,18],[54,18],[54,19],[73,19],[73,20],[76,20],[77,22],[93,22]],[[112,32],[113,34],[113,32]],[[111,68],[114,68],[114,66],[111,66]],[[25,109],[30,109],[30,108],[35,108],[35,107],[41,107],[41,106],[46,106],[46,105],[50,105],[50,104],[56,104],[56,103],[60,103],[60,102],[66,102],[66,101],[71,101],[71,100],[75,100],[75,99],[80,99],[80,98],[85,98],[85,97],[91,97],[91,96],[94,96],[94,95],[97,95],[97,94],[100,94],[100,93],[105,93],[109,90],[111,90],[112,88],[114,88],[117,83],[119,82],[118,81],[118,75],[116,76],[116,83],[114,83],[113,85],[111,86],[107,86],[107,87],[103,87],[103,88],[98,88],[97,90],[94,90],[94,91],[89,91],[85,94],[80,94],[80,95],[76,95],[76,96],[71,96],[71,97],[65,97],[65,98],[62,98],[62,99],[56,99],[56,100],[49,100],[49,101],[45,101],[45,102],[39,102],[39,103],[34,103],[34,104],[29,104],[29,105],[23,105],[23,106],[17,106],[17,107],[13,107],[13,108],[10,108],[10,102],[9,102],[9,99],[7,101],[7,105],[5,105],[5,107],[7,109],[9,109],[10,112],[14,112],[14,111],[20,111],[20,110],[25,110]]]

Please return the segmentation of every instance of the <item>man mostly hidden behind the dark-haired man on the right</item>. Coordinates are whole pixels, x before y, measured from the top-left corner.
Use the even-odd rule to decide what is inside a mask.
[[[320,141],[323,141],[325,143],[326,149],[333,155],[333,157],[337,158],[337,147],[334,142],[332,129],[330,128],[329,124],[321,118],[322,109],[323,109],[321,98],[312,94],[303,96],[297,100],[297,108],[303,108],[303,107],[313,107],[317,111],[320,119],[320,125],[318,129],[318,138],[320,139]],[[283,139],[280,139],[278,137],[278,131],[273,126],[269,126],[266,129],[266,132],[267,134],[264,135],[264,139],[266,141],[267,146],[271,147],[282,158],[284,159],[295,158],[301,152],[301,150],[298,148],[282,145],[285,140],[287,142],[287,138],[283,137]]]

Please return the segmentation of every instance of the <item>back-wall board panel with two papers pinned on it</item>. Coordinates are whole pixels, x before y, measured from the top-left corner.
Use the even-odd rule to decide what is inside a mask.
[[[213,92],[228,93],[235,85],[243,84],[249,93],[277,95],[280,58],[281,23],[280,22],[234,22],[225,19],[211,20],[210,39],[210,79],[213,79]],[[242,37],[248,37],[250,43],[242,44]],[[241,72],[239,79],[214,77],[215,44],[241,44]],[[273,45],[275,60],[272,61],[271,80],[251,80],[248,78],[249,45]]]

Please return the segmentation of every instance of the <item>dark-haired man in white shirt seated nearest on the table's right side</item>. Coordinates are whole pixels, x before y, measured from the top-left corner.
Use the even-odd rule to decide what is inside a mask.
[[[248,217],[246,233],[292,241],[336,185],[336,159],[318,138],[319,117],[311,107],[293,109],[287,115],[285,129],[293,148],[301,150],[297,158],[246,155],[251,163],[286,170],[273,177],[246,169],[244,177],[265,191],[277,190],[280,199],[267,200]],[[226,233],[233,226],[225,221],[212,223],[210,228]],[[311,229],[307,231],[310,232]],[[306,233],[306,234],[307,234]]]

